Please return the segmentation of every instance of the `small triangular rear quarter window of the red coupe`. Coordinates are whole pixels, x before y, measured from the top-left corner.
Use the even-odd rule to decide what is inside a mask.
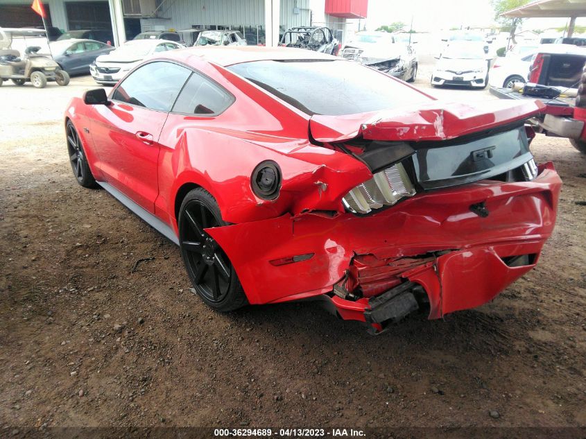
[[[234,102],[231,94],[199,74],[192,74],[183,87],[173,112],[187,114],[218,114]]]

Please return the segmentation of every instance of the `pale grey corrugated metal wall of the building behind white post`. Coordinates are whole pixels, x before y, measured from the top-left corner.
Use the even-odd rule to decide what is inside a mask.
[[[309,0],[281,0],[281,26],[309,26]],[[295,13],[298,12],[298,13]],[[264,0],[167,0],[158,15],[141,26],[186,29],[192,25],[264,26]]]

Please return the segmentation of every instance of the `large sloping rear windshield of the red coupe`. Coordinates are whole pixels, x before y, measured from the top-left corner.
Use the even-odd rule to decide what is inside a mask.
[[[417,90],[357,62],[271,60],[227,69],[307,114],[356,114],[429,101]]]

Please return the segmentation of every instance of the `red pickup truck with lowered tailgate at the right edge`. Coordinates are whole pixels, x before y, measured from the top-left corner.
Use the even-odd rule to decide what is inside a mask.
[[[533,56],[522,90],[490,87],[501,99],[542,102],[531,118],[535,131],[567,137],[586,154],[586,47],[543,44]]]

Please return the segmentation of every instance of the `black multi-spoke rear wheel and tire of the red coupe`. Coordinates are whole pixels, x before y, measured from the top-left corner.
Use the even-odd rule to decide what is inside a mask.
[[[179,210],[179,244],[187,275],[200,299],[212,309],[234,311],[248,300],[234,266],[207,227],[228,225],[214,197],[205,189],[193,189]]]

